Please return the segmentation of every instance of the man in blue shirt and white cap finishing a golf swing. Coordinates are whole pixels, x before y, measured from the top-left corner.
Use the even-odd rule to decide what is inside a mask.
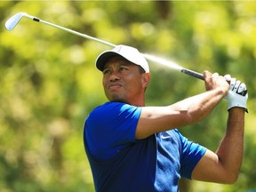
[[[180,177],[236,182],[244,151],[245,84],[205,71],[206,92],[170,106],[145,107],[150,75],[137,49],[118,45],[102,52],[96,67],[109,100],[84,124],[96,191],[178,191]],[[228,127],[216,153],[176,129],[200,122],[223,98],[228,100]]]

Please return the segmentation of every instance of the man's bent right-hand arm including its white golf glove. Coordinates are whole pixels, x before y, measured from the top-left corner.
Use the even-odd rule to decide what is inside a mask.
[[[220,147],[213,153],[207,150],[192,172],[195,180],[220,183],[235,183],[240,171],[244,154],[244,111],[248,112],[246,85],[236,78],[225,76],[230,87],[228,100],[228,127],[220,142]]]

